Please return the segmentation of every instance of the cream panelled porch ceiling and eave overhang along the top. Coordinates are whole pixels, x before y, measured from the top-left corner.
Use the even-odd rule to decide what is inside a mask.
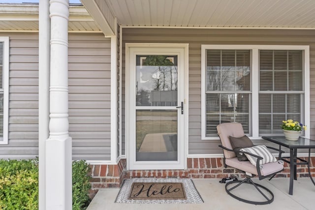
[[[81,0],[69,32],[127,28],[315,29],[315,0]],[[0,4],[0,31],[38,31],[38,4]]]

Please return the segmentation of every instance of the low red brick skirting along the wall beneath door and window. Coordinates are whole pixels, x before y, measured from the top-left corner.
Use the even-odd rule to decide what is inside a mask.
[[[301,157],[308,159],[307,157]],[[187,170],[126,170],[126,159],[121,159],[117,165],[90,165],[93,198],[101,188],[120,187],[126,178],[190,178],[190,179],[222,179],[226,177],[244,178],[243,173],[234,168],[224,168],[223,158],[188,158]],[[311,157],[311,175],[315,177],[315,157]],[[275,177],[289,178],[289,164],[284,163],[284,171]],[[306,165],[297,166],[297,177],[309,177]]]

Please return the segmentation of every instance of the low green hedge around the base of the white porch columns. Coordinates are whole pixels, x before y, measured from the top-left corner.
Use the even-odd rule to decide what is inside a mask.
[[[84,160],[72,162],[72,209],[89,203],[90,167]],[[38,209],[38,159],[0,160],[0,210]]]

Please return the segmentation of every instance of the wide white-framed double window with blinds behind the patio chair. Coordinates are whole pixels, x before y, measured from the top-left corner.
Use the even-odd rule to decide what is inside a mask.
[[[283,134],[282,120],[309,124],[308,46],[202,45],[201,60],[202,139],[223,122],[253,138]]]

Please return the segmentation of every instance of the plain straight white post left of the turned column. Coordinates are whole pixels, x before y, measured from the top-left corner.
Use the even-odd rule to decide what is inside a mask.
[[[50,65],[49,1],[39,0],[38,47],[38,157],[39,210],[45,210],[45,143],[49,137],[49,65]]]

